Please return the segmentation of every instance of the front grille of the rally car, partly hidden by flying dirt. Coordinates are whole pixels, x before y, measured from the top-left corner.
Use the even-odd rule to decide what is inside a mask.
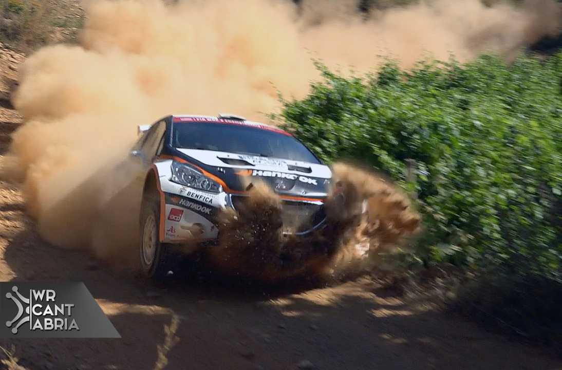
[[[233,195],[234,209],[244,201],[245,196]],[[300,201],[282,201],[281,220],[283,231],[287,233],[306,232],[323,222],[325,218],[324,205]]]

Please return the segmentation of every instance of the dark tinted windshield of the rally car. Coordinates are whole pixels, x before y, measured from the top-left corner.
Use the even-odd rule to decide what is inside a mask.
[[[319,163],[314,154],[292,136],[238,124],[175,123],[173,144],[176,148],[203,149]]]

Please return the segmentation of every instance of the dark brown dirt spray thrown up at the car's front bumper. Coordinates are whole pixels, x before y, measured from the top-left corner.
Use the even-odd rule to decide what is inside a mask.
[[[303,274],[339,278],[369,270],[382,252],[420,230],[408,197],[382,177],[336,163],[333,183],[324,227],[301,237],[283,236],[279,196],[265,185],[253,187],[237,211],[221,213],[211,263],[269,282]]]

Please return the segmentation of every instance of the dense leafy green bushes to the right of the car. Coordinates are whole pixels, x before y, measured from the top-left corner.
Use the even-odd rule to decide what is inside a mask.
[[[404,188],[416,160],[418,260],[562,281],[562,53],[389,62],[366,78],[319,68],[307,98],[283,101],[285,127],[328,163],[360,160]]]

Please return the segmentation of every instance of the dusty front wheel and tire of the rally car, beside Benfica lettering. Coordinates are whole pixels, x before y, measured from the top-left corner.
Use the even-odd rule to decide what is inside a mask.
[[[144,193],[140,207],[139,256],[142,276],[164,279],[172,268],[170,246],[160,242],[160,198],[155,191]]]

